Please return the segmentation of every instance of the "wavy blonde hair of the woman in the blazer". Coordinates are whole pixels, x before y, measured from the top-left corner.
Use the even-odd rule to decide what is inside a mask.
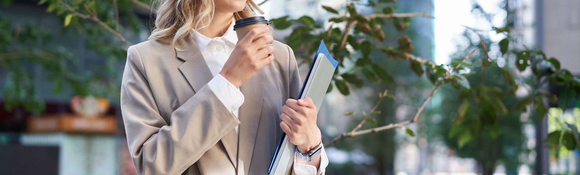
[[[200,30],[212,22],[215,3],[213,0],[160,0],[155,1],[155,29],[150,40],[161,43],[177,42],[189,37],[189,31]],[[240,20],[255,16],[255,12],[264,12],[252,0],[246,1],[244,10],[234,13],[234,19]]]

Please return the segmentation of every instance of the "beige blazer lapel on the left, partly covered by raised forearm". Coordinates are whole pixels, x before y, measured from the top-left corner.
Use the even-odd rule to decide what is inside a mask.
[[[200,52],[200,48],[193,41],[193,38],[188,37],[183,42],[179,42],[175,46],[177,58],[185,61],[179,65],[179,71],[187,79],[191,88],[197,93],[213,78],[212,72],[209,70],[208,64],[205,62],[204,56]],[[221,139],[230,161],[234,167],[237,167],[237,143],[238,137],[235,130]]]

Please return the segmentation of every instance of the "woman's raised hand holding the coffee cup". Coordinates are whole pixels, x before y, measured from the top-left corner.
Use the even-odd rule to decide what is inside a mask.
[[[274,54],[271,54],[274,52],[272,46],[261,48],[267,43],[273,43],[274,38],[264,35],[252,41],[256,36],[265,34],[269,30],[268,27],[252,28],[244,38],[238,41],[229,59],[223,65],[222,71],[219,72],[236,88],[240,88],[256,72],[274,60]]]

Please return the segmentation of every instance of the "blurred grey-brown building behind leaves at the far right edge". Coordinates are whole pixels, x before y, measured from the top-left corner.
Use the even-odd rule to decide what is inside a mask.
[[[562,68],[580,76],[580,1],[577,0],[535,0],[534,1],[535,46],[548,57],[555,57]],[[531,38],[531,37],[530,37]],[[550,91],[558,93],[557,86]],[[578,103],[578,102],[577,102]],[[577,118],[578,120],[578,118]],[[548,123],[539,125],[538,140],[548,135]],[[580,154],[575,151],[568,157],[549,159],[548,148],[539,148],[536,170],[543,174],[580,173]],[[556,161],[557,160],[557,161]]]

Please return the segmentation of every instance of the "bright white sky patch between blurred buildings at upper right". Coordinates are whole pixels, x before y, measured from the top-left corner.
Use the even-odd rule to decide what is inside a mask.
[[[466,0],[434,0],[435,3],[435,63],[448,64],[449,54],[456,50],[456,45],[467,46],[467,41],[461,39],[466,25],[472,28],[491,30],[491,25],[483,18],[472,14],[472,2]],[[506,13],[499,6],[501,0],[477,0],[487,13],[496,14],[492,23],[496,27],[503,26]],[[502,35],[490,31],[493,41],[500,41]],[[494,50],[494,48],[491,48]]]

